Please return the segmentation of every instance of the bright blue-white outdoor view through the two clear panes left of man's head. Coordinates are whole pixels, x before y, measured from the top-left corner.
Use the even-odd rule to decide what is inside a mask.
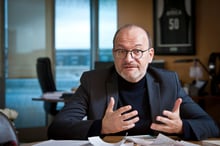
[[[55,48],[58,89],[77,88],[81,74],[90,70],[90,2],[56,0]],[[116,0],[99,0],[99,60],[112,60],[112,39],[117,27]]]

